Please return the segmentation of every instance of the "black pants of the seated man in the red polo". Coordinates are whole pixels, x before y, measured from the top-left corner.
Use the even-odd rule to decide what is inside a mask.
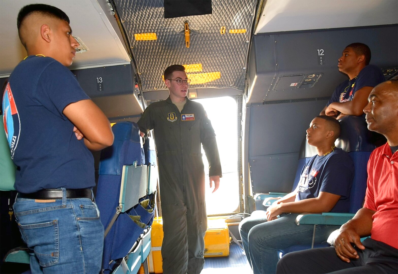
[[[276,273],[398,273],[398,249],[371,238],[358,249],[358,259],[342,261],[334,247],[288,253],[279,260]]]

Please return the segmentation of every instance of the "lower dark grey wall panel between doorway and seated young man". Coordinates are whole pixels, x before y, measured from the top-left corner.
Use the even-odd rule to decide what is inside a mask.
[[[298,153],[250,159],[253,193],[291,192],[298,164]],[[276,171],[276,172],[272,172]]]

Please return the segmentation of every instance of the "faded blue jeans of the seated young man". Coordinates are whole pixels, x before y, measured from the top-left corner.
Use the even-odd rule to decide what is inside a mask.
[[[298,214],[283,214],[267,222],[265,211],[254,211],[252,216],[239,224],[246,257],[254,273],[275,273],[279,260],[278,251],[292,245],[311,245],[313,225],[296,225]],[[325,242],[336,225],[317,225],[315,244]]]

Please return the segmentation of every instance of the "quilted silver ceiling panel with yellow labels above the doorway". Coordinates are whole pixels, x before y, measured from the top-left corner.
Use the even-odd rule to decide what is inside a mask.
[[[162,75],[172,64],[187,68],[192,88],[244,91],[257,0],[211,4],[212,14],[164,18],[163,0],[115,0],[143,91],[164,89]],[[157,39],[136,39],[136,34],[148,33],[156,33]]]

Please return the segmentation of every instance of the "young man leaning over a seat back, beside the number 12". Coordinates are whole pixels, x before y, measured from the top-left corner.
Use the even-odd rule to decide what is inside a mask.
[[[369,93],[373,87],[384,82],[377,66],[369,65],[371,50],[363,43],[352,43],[345,47],[339,58],[339,71],[347,74],[348,80],[339,84],[320,115],[340,119],[345,115],[363,115]]]

